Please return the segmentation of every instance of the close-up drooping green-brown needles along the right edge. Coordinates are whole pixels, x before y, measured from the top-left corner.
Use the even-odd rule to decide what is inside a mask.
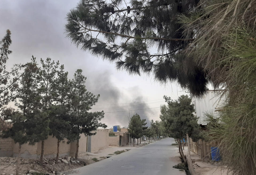
[[[209,134],[233,174],[256,174],[256,1],[201,0],[179,19],[184,35],[194,31],[186,54],[227,95]]]

